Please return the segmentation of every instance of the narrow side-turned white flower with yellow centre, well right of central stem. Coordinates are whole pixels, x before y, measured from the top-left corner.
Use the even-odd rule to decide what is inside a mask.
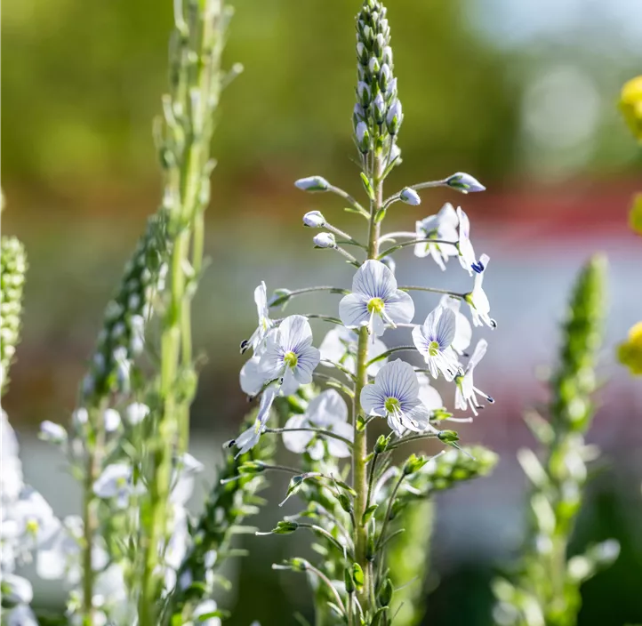
[[[459,369],[453,350],[454,334],[454,312],[442,306],[430,311],[423,325],[413,328],[414,345],[424,357],[433,378],[441,372],[446,381],[452,381]]]

